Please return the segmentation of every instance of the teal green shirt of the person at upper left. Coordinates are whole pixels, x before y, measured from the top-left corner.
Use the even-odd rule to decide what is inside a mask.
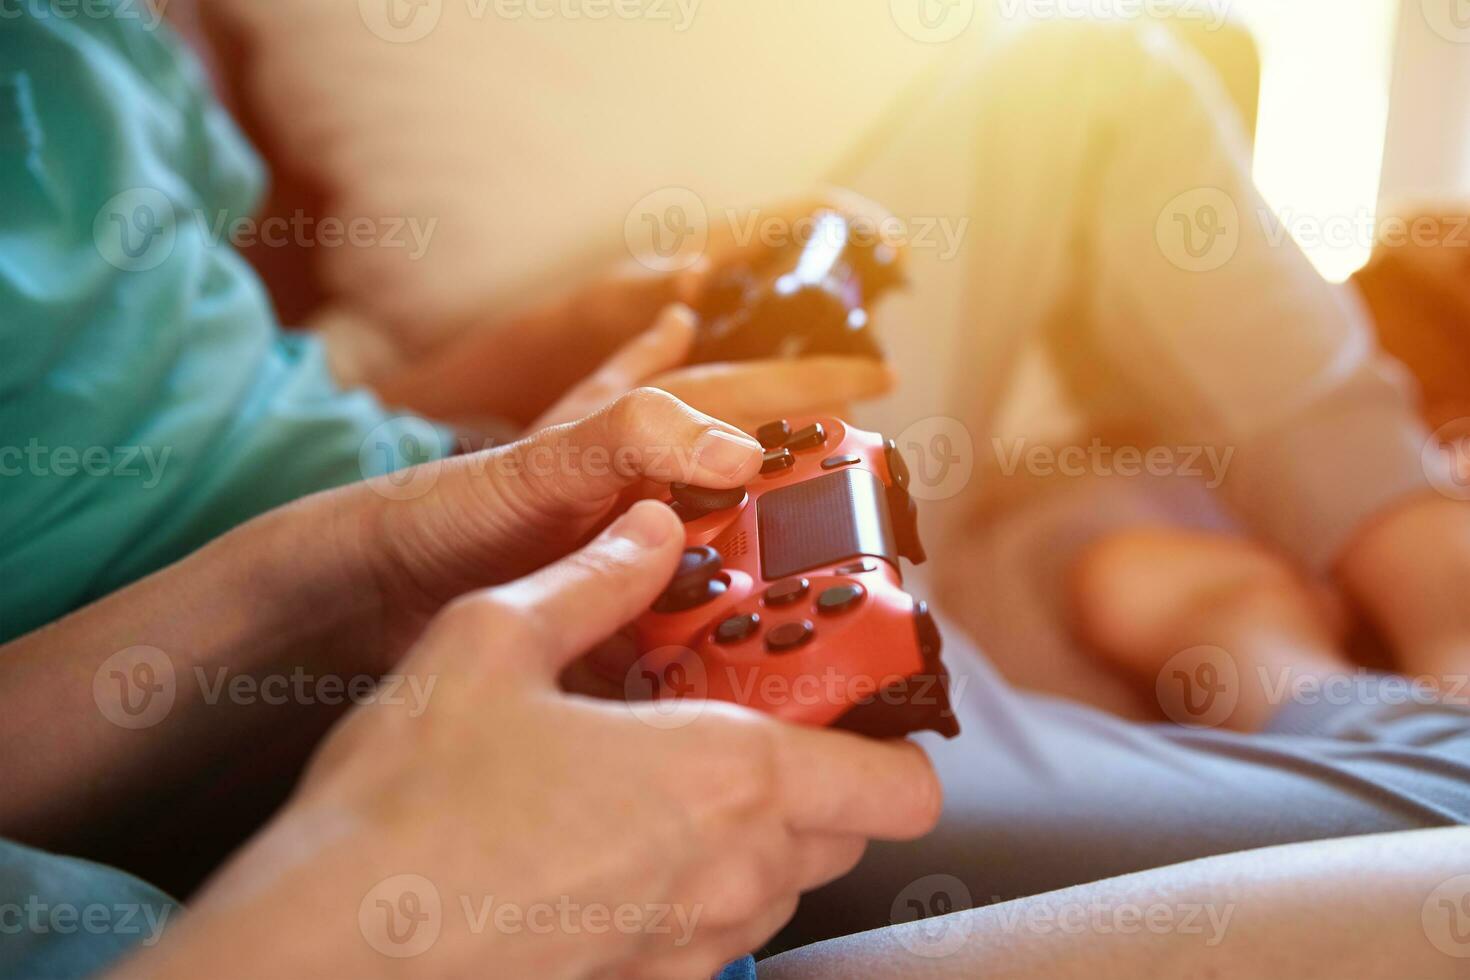
[[[220,239],[263,173],[184,46],[63,9],[0,0],[0,641],[445,448],[338,389]]]

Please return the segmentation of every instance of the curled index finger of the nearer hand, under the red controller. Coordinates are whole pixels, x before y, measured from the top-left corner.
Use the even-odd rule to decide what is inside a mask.
[[[939,821],[944,790],[913,742],[791,726],[779,754],[786,826],[795,832],[911,840]]]

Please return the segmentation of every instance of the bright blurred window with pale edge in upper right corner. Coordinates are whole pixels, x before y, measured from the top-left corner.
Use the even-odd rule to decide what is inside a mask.
[[[1261,54],[1255,179],[1326,276],[1347,279],[1367,262],[1363,229],[1372,234],[1380,204],[1470,192],[1470,4],[1233,7]],[[1446,43],[1446,25],[1464,37]]]

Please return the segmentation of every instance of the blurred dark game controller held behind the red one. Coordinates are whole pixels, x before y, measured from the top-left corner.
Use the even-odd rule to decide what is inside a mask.
[[[882,360],[867,311],[903,284],[892,247],[858,241],[847,217],[820,212],[804,242],[716,273],[695,303],[700,335],[689,363],[811,354]]]

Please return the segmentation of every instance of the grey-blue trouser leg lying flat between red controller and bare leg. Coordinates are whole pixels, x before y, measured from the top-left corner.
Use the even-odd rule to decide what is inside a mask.
[[[1122,721],[1017,692],[945,630],[963,733],[922,735],[944,818],[803,901],[804,945],[1232,851],[1470,824],[1470,708],[1392,682],[1289,704],[1261,735]],[[963,685],[963,688],[960,688]],[[1388,685],[1388,686],[1385,686]]]

